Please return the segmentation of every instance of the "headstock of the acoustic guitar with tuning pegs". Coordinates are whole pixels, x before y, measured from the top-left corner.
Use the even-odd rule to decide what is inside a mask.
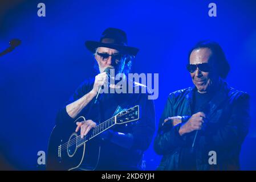
[[[121,111],[121,113],[115,115],[116,124],[123,124],[140,119],[140,106],[136,105],[130,109]]]

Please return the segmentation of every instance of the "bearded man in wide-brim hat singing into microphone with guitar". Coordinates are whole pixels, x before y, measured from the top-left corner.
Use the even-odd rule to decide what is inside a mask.
[[[148,93],[100,93],[101,86],[119,89],[115,74],[123,74],[123,81],[135,89],[144,85],[127,79],[133,58],[139,49],[127,46],[127,36],[117,28],[107,28],[101,35],[100,42],[87,41],[86,47],[94,53],[99,66],[99,74],[94,79],[86,80],[76,90],[67,105],[61,109],[56,118],[56,125],[74,122],[83,115],[87,120],[77,122],[76,132],[80,130],[83,138],[88,132],[111,118],[123,109],[139,105],[140,119],[127,125],[114,126],[100,134],[99,170],[140,170],[143,169],[143,154],[151,143],[155,132],[155,107],[148,100]],[[109,84],[108,79],[114,80]],[[93,142],[93,141],[91,141]],[[83,169],[83,164],[80,166]]]

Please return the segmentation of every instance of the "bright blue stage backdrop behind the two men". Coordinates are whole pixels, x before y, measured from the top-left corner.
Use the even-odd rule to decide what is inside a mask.
[[[46,17],[37,16],[39,2]],[[208,5],[217,5],[217,17]],[[0,52],[9,40],[21,46],[0,57],[1,166],[44,169],[37,152],[47,142],[58,109],[80,83],[94,76],[94,58],[85,40],[99,40],[107,27],[127,32],[128,45],[140,48],[133,73],[159,73],[156,124],[168,94],[192,86],[185,69],[189,49],[199,40],[222,46],[231,71],[227,82],[251,96],[251,126],[241,151],[241,168],[256,169],[256,2],[255,1],[1,1]],[[254,76],[253,76],[254,75]],[[152,146],[147,169],[161,156]]]

